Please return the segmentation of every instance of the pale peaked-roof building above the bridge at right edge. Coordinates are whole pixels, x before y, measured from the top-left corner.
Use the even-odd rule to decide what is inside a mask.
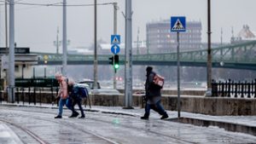
[[[242,26],[241,31],[237,34],[236,37],[232,36],[231,43],[240,43],[246,41],[256,40],[256,32],[251,32],[249,26]]]

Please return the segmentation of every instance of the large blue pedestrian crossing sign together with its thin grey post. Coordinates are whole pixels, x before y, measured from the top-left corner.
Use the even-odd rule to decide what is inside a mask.
[[[186,17],[171,17],[171,32],[177,32],[177,118],[180,118],[180,60],[179,60],[179,32],[186,32]]]

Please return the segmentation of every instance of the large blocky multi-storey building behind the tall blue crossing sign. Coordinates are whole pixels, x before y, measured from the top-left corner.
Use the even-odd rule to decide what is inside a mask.
[[[147,24],[147,47],[150,54],[177,50],[177,32],[171,32],[170,27],[170,20]],[[201,49],[201,21],[186,22],[186,32],[180,32],[180,49]]]

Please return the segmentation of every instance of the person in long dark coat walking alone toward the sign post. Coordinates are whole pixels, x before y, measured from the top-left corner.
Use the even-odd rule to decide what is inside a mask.
[[[152,108],[155,112],[158,112],[162,117],[161,119],[168,118],[168,114],[165,111],[164,107],[161,105],[161,94],[160,89],[163,87],[163,83],[155,82],[156,73],[153,72],[153,67],[148,66],[146,68],[146,83],[145,83],[145,92],[146,92],[146,106],[145,114],[141,119],[148,119],[150,114],[150,109]]]

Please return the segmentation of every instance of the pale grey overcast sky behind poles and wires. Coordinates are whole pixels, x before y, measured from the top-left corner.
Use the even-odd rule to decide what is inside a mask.
[[[20,0],[20,3],[61,3],[62,0]],[[117,2],[118,33],[121,41],[125,39],[125,0],[98,0],[98,3]],[[2,4],[3,2],[0,1]],[[90,4],[94,0],[67,0],[67,4]],[[255,0],[212,0],[212,42],[220,42],[221,27],[224,42],[230,42],[231,27],[235,35],[244,24],[256,32],[254,14]],[[152,20],[170,20],[171,16],[186,16],[187,20],[201,20],[202,40],[207,42],[207,0],[132,0],[133,40],[145,39],[146,24]],[[4,7],[1,5],[0,45],[4,46]],[[110,43],[113,33],[113,6],[98,6],[98,39]],[[32,51],[55,52],[53,42],[56,39],[57,26],[62,39],[62,8],[15,5],[15,42],[20,47],[30,47]],[[67,38],[71,43],[68,48],[89,46],[94,41],[93,7],[67,7]],[[110,48],[109,48],[110,49]]]

